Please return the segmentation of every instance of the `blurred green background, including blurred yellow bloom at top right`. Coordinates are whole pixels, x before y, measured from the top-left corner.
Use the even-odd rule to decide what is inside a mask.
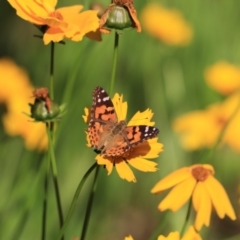
[[[219,61],[240,65],[239,1],[159,0],[154,3],[167,10],[154,21],[154,13],[147,9],[152,2],[135,0],[143,31],[128,30],[120,37],[114,91],[128,102],[128,120],[137,111],[153,110],[159,141],[164,144],[164,152],[156,159],[159,171],[132,169],[137,183],[129,183],[115,170],[107,176],[102,168],[87,239],[120,240],[131,234],[135,240],[146,240],[181,230],[187,206],[177,213],[160,213],[157,206],[165,194],[154,196],[150,189],[168,173],[197,163],[208,149],[185,150],[172,123],[182,114],[203,110],[226,98],[206,83],[207,68]],[[83,4],[87,9],[91,3],[59,0],[57,6]],[[100,3],[107,6],[109,1]],[[148,20],[160,32],[158,36]],[[0,21],[0,60],[11,59],[24,69],[33,87],[48,87],[50,45],[33,37],[40,34],[38,29],[20,19],[7,1],[0,3]],[[86,147],[87,126],[82,115],[83,109],[92,104],[96,86],[109,89],[114,34],[102,38],[102,42],[66,40],[65,45],[56,44],[55,48],[55,101],[65,102],[68,107],[58,124],[55,146],[65,216],[79,181],[95,161],[95,153]],[[0,94],[5,91],[3,82],[8,81],[1,81],[4,74],[0,72]],[[1,118],[7,113],[8,106],[2,101]],[[9,134],[4,121],[0,122],[0,239],[40,239],[45,153],[36,148],[27,146],[23,135]],[[239,216],[239,152],[223,146],[210,164]],[[66,239],[80,235],[91,182],[92,177],[79,197]],[[55,239],[59,226],[52,181],[48,200],[47,239]],[[210,227],[203,227],[201,235],[203,239],[240,239],[239,224],[239,218],[220,220],[213,213]]]

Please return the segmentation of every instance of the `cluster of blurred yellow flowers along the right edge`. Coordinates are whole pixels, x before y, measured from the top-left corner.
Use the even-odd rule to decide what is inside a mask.
[[[207,82],[223,94],[232,93],[223,102],[205,110],[198,110],[178,117],[173,129],[181,135],[187,150],[211,148],[221,137],[221,144],[240,151],[240,69],[227,63],[217,63],[207,69]],[[224,131],[223,136],[220,136]],[[209,134],[211,132],[211,134]]]

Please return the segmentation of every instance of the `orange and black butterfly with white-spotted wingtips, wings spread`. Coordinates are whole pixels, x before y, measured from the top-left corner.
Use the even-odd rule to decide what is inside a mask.
[[[156,137],[159,130],[147,125],[127,126],[126,120],[118,121],[111,98],[103,88],[96,87],[87,132],[91,147],[97,153],[104,157],[120,157]]]

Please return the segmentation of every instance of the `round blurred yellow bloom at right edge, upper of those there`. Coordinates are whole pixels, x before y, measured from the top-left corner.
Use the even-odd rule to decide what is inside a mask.
[[[218,62],[205,71],[210,87],[228,95],[240,88],[240,68],[228,62]]]

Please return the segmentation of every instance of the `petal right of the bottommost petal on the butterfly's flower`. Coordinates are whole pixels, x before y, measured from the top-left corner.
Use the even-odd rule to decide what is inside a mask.
[[[143,171],[143,172],[156,172],[157,171],[157,163],[148,161],[143,158],[133,158],[128,163],[134,168]]]

